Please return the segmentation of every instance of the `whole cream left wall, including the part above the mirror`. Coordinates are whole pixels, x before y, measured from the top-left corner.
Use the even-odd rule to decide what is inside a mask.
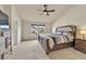
[[[0,10],[9,15],[13,44],[21,42],[21,18],[14,5],[0,4]]]

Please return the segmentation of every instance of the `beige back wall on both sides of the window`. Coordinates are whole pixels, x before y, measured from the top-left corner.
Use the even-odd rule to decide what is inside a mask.
[[[30,22],[22,22],[22,40],[30,40],[36,39],[37,35],[32,35]],[[45,33],[51,33],[51,24],[50,23],[41,23],[46,25]]]

